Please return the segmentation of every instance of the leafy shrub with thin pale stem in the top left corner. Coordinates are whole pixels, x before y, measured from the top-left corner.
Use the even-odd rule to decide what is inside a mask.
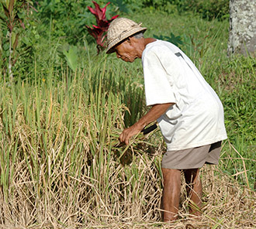
[[[30,1],[1,1],[0,7],[0,67],[2,74],[9,74],[10,79],[16,75],[17,69],[22,73],[26,62],[31,63],[32,45],[29,40],[36,34],[35,27],[29,24],[34,9]],[[29,34],[33,32],[32,36]],[[19,66],[22,63],[22,66]]]

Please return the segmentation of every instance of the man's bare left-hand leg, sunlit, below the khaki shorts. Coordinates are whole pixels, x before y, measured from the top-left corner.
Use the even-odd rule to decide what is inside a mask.
[[[181,193],[181,171],[162,168],[164,177],[163,210],[164,222],[176,220]]]

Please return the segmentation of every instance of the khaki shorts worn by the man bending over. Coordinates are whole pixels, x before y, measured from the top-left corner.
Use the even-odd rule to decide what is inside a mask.
[[[217,165],[220,158],[221,141],[191,149],[171,150],[164,153],[164,169],[198,169],[204,164]]]

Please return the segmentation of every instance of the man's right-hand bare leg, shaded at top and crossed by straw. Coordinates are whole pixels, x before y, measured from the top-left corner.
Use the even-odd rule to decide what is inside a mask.
[[[191,200],[189,213],[200,216],[202,207],[202,183],[199,177],[199,169],[184,169],[186,190]],[[198,210],[199,209],[199,210]]]

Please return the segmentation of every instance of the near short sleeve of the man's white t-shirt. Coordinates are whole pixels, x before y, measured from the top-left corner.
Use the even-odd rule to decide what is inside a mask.
[[[175,65],[174,54],[161,48],[144,51],[142,63],[147,106],[176,103],[171,82],[171,73],[175,73],[175,69],[171,70],[171,66]]]

